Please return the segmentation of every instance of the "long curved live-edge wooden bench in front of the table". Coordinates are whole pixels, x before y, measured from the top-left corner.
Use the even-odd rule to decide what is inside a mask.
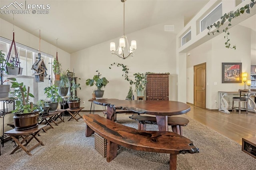
[[[168,131],[142,131],[110,121],[99,115],[84,115],[86,137],[94,132],[107,140],[106,159],[116,157],[118,145],[147,152],[170,154],[170,170],[176,170],[177,154],[199,153],[188,138]]]

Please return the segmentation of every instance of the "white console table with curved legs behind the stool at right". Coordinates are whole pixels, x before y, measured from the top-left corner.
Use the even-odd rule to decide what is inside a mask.
[[[219,93],[219,111],[223,113],[230,114],[228,111],[228,101],[225,99],[225,96],[235,94],[239,95],[238,91],[218,91]],[[256,103],[252,99],[252,96],[256,96],[256,91],[250,91],[248,95],[248,111],[256,113]]]

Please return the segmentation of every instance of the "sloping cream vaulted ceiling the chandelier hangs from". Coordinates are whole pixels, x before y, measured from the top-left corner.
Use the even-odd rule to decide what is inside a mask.
[[[0,1],[0,8],[14,1]],[[28,4],[50,5],[49,14],[15,14],[14,24],[48,43],[73,53],[123,35],[121,0],[29,0]],[[188,22],[209,0],[127,0],[125,33],[147,28],[172,18]],[[11,8],[11,6],[9,7]],[[0,18],[13,24],[12,14]],[[172,23],[170,23],[172,24]]]

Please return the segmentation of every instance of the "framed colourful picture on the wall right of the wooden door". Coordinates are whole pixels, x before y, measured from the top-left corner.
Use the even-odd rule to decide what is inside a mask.
[[[222,83],[242,83],[242,63],[222,63]]]

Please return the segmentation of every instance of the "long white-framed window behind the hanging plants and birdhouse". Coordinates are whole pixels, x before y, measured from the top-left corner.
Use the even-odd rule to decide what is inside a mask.
[[[5,38],[0,37],[0,50],[2,50],[2,53],[5,54],[5,57],[7,57],[7,54],[9,52],[11,45],[11,41],[7,40]],[[20,61],[20,67],[23,68],[22,75],[4,75],[4,80],[10,77],[15,77],[17,81],[23,82],[26,87],[30,87],[30,93],[34,95],[34,98],[30,98],[30,101],[33,103],[36,103],[40,99],[45,99],[44,95],[44,88],[48,87],[50,85],[49,83],[49,77],[44,78],[44,82],[42,83],[37,83],[35,81],[34,71],[31,69],[33,63],[36,61],[36,57],[38,57],[38,51],[36,49],[27,47],[25,45],[16,43],[16,48],[19,56],[19,61]],[[52,67],[49,63],[53,61],[53,56],[49,55],[47,53],[41,53],[41,58],[44,59],[44,63],[46,64],[47,67],[47,74],[52,73]],[[14,56],[14,47],[12,47],[11,55]],[[5,82],[4,84],[10,84],[9,82]],[[14,89],[10,89],[13,91]],[[8,111],[12,110],[13,105],[8,104]],[[3,109],[3,102],[0,102],[0,111]]]

